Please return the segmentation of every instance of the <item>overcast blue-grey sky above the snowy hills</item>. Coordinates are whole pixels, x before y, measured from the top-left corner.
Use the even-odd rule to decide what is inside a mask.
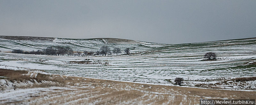
[[[194,43],[256,37],[256,0],[0,0],[0,35]]]

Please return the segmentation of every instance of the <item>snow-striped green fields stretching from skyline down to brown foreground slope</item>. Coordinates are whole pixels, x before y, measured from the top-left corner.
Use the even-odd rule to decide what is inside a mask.
[[[97,51],[130,48],[131,54],[120,56],[45,56],[7,53],[12,49],[26,51],[48,46],[69,46],[73,50]],[[0,39],[0,68],[37,69],[51,74],[148,84],[173,85],[176,77],[184,86],[215,84],[237,77],[256,76],[256,39],[238,39],[205,43],[161,44],[118,39],[60,39],[22,41]],[[202,61],[206,52],[214,52],[216,61]],[[124,53],[124,52],[122,52]],[[89,64],[71,63],[86,61]],[[255,81],[246,86],[224,86],[225,89],[255,89]]]

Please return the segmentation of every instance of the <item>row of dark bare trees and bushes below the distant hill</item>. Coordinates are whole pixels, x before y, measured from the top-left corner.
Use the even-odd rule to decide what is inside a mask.
[[[126,48],[124,50],[125,54],[129,55],[130,54],[130,49]],[[50,55],[50,56],[64,56],[64,55],[68,55],[68,56],[80,56],[80,55],[109,55],[114,53],[116,56],[118,54],[121,53],[120,48],[114,48],[114,49],[110,49],[108,46],[102,46],[98,51],[96,52],[90,52],[90,51],[74,51],[73,49],[71,49],[70,47],[60,47],[57,46],[56,48],[53,47],[47,47],[43,50],[37,50],[37,51],[23,51],[21,49],[13,49],[12,53],[18,53],[18,54],[35,54],[35,55]]]

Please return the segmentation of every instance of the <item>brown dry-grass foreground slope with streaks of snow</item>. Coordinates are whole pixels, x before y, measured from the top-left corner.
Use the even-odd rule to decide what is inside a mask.
[[[0,104],[198,105],[199,99],[256,97],[256,91],[185,88],[40,73],[0,69]]]

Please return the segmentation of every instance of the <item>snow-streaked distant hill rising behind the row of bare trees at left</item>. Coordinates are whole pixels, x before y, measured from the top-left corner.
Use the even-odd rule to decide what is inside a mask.
[[[97,51],[103,45],[124,50],[144,51],[148,49],[164,47],[166,44],[148,43],[118,38],[92,38],[92,39],[70,39],[52,37],[30,37],[30,36],[0,36],[0,50],[12,51],[22,49],[25,51],[42,50],[46,47],[68,46],[79,51]]]

